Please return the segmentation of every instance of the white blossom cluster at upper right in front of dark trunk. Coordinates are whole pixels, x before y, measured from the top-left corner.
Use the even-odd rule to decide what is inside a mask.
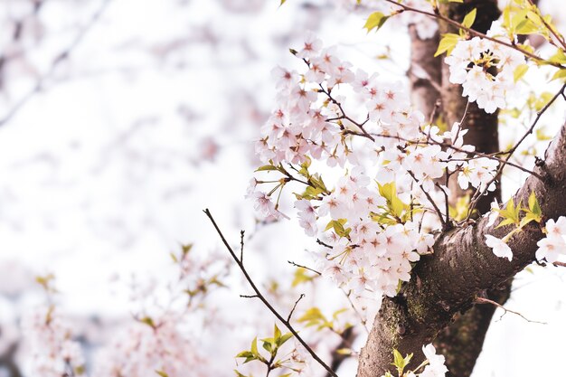
[[[492,24],[490,37],[510,42],[499,23]],[[524,54],[485,38],[459,41],[445,59],[450,82],[462,84],[462,95],[487,113],[505,108],[515,91],[514,72],[525,63]]]

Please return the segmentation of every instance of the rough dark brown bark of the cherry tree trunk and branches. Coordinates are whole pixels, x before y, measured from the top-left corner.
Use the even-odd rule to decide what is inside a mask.
[[[464,5],[448,6],[442,13],[459,21],[471,9],[477,8],[474,28],[481,32],[485,32],[499,14],[493,0],[473,0]],[[454,33],[447,25],[441,25],[441,31]],[[438,77],[434,73],[437,70],[435,60],[420,58],[425,54],[432,56],[438,44],[432,47],[432,42],[420,41],[414,31],[411,31],[411,39],[412,61],[419,63],[430,78]],[[441,93],[435,89],[438,85],[426,85],[422,80],[411,78],[413,100],[425,114],[429,114],[440,95],[442,116],[451,126],[462,117],[466,99],[461,97],[461,87],[449,84],[446,67],[441,77],[442,80],[437,82],[442,88]],[[470,105],[465,127],[468,129],[466,144],[475,145],[476,150],[485,153],[499,150],[496,114],[487,115],[475,104]],[[556,218],[566,214],[566,205],[559,203],[566,187],[566,127],[561,128],[545,157],[546,165],[537,168],[538,173],[544,174],[544,182],[530,177],[516,193],[515,201],[523,199],[526,203],[528,195],[534,191],[544,215]],[[498,187],[497,192],[483,198],[477,206],[479,212],[487,212],[489,203],[499,195]],[[451,199],[455,200],[455,197]],[[486,227],[485,219],[480,219],[465,229],[439,235],[434,245],[435,253],[420,261],[400,295],[384,299],[360,357],[359,377],[380,376],[390,370],[393,348],[403,354],[414,353],[420,363],[424,358],[420,348],[437,336],[439,351],[447,356],[449,375],[469,376],[495,312],[495,306],[474,306],[475,298],[488,297],[504,303],[514,274],[533,261],[536,241],[542,238],[542,232],[536,226],[514,236],[509,243],[514,250],[514,260],[509,262],[496,258],[486,247],[485,234],[503,236],[505,228],[495,231],[494,227]]]

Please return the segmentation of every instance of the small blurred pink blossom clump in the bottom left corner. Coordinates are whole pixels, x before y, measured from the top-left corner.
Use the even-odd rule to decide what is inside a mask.
[[[28,375],[61,377],[85,374],[80,344],[72,339],[71,326],[54,306],[42,306],[24,316],[25,361]]]

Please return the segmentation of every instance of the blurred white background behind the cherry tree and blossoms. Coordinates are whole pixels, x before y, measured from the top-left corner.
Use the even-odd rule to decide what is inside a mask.
[[[45,303],[68,319],[96,370],[117,329],[173,295],[179,270],[169,253],[188,244],[195,259],[186,269],[196,272],[183,278],[216,274],[222,285],[183,314],[185,345],[202,367],[184,375],[233,375],[234,355],[269,335],[273,318],[239,297],[249,289],[204,208],[234,245],[247,231],[250,271],[281,307],[299,292],[308,292],[299,311],[348,305],[332,285],[286,290],[296,278],[288,260],[308,264],[305,250],[316,245],[297,221],[256,221],[244,194],[258,165],[252,141],[274,104],[270,71],[297,65],[288,49],[307,31],[355,66],[405,80],[404,26],[366,34],[368,9],[355,3],[0,0],[0,377],[37,375],[22,324]],[[541,3],[564,20],[552,8],[560,2]],[[534,266],[515,286],[507,305],[547,325],[496,315],[476,376],[533,375],[540,363],[514,360],[561,355],[544,344],[566,336],[564,273]],[[337,343],[317,347],[327,354]],[[362,345],[363,336],[354,348]],[[156,375],[149,368],[139,375]],[[353,376],[355,362],[339,372]]]

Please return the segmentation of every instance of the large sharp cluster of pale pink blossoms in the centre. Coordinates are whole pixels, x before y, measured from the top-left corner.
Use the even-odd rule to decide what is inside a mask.
[[[448,197],[439,178],[458,174],[463,189],[493,190],[497,162],[476,158],[458,123],[444,133],[427,125],[400,82],[354,71],[312,35],[295,54],[306,70],[274,70],[278,106],[256,146],[266,164],[260,174],[283,176],[252,179],[247,196],[263,216],[287,217],[272,196],[290,182],[305,184],[295,207],[307,235],[324,240],[326,249],[316,254],[323,273],[358,295],[394,296],[399,282],[410,279],[411,263],[429,252],[429,230],[446,217],[439,212],[444,205],[434,203]],[[346,114],[354,107],[350,98],[362,104],[363,121]],[[374,154],[363,158],[363,149]],[[333,188],[309,172],[315,160],[343,169]],[[260,191],[266,183],[276,186]]]

